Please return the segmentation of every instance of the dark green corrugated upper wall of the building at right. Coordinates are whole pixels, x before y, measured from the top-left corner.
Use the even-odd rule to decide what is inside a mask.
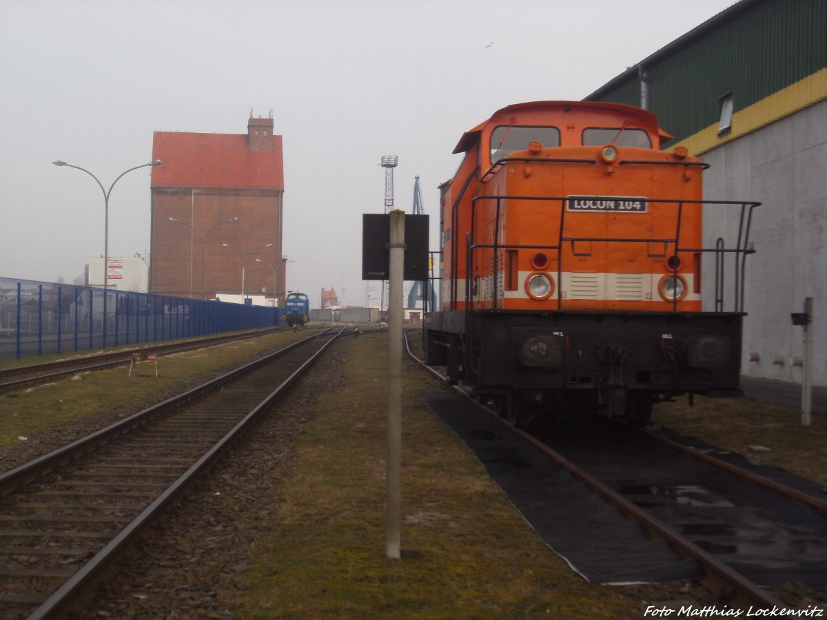
[[[644,64],[649,109],[675,141],[717,123],[726,93],[738,112],[827,66],[827,0],[747,0],[738,9]],[[637,75],[595,99],[639,106]]]

